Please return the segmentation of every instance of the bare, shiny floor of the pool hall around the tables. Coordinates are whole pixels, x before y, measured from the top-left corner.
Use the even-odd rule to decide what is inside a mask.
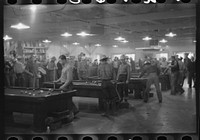
[[[159,103],[155,89],[148,103],[133,99],[130,94],[129,109],[121,109],[117,116],[102,117],[97,111],[97,99],[73,98],[80,109],[76,119],[51,134],[121,134],[121,133],[194,133],[196,131],[195,89],[184,84],[185,93],[170,95],[162,92],[163,103]],[[15,113],[15,121],[22,124],[6,126],[7,134],[33,134],[32,116]],[[26,124],[26,125],[25,125]]]

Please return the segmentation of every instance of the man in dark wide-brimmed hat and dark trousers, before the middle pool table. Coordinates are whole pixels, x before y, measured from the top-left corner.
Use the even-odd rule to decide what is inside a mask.
[[[107,116],[114,111],[115,102],[116,100],[119,100],[119,96],[116,92],[115,86],[111,82],[111,80],[115,79],[115,73],[112,65],[107,62],[108,57],[103,55],[100,61],[101,65],[98,67],[98,76],[102,80],[102,98],[105,106],[105,112],[102,115]]]

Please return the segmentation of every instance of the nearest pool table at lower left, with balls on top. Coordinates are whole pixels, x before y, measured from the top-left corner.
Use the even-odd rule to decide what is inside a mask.
[[[33,114],[33,130],[46,130],[45,119],[49,113],[73,111],[72,96],[76,90],[5,88],[5,119],[13,121],[13,112]]]

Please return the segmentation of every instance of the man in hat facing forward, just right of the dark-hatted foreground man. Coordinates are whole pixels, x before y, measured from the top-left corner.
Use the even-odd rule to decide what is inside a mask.
[[[130,66],[126,62],[127,57],[125,55],[121,55],[120,60],[121,64],[117,73],[117,81],[124,82],[124,86],[122,89],[119,89],[120,97],[125,102],[127,102],[128,98],[128,83],[130,80]]]

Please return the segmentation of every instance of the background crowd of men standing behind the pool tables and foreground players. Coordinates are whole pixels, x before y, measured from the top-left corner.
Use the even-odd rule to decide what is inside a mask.
[[[100,59],[98,62],[95,59],[92,62],[92,59],[86,58],[84,53],[80,53],[78,55],[78,59],[75,57],[66,57],[67,63],[72,67],[72,76],[73,80],[84,80],[87,77],[100,76],[102,74],[102,70],[104,74],[102,75],[103,79],[105,77],[109,77],[109,72],[107,68],[102,68],[102,64],[104,63],[104,59]],[[62,59],[61,59],[62,60]],[[17,57],[16,54],[10,54],[10,56],[5,57],[5,84],[6,86],[20,86],[20,87],[40,87],[42,83],[45,81],[56,81],[60,80],[62,75],[62,70],[64,65],[59,58],[59,61],[56,62],[56,57],[52,57],[49,61],[39,62],[39,60],[32,56],[29,59],[24,60],[22,57]],[[192,81],[195,87],[195,60],[192,56],[191,59],[188,58],[188,53],[185,53],[184,59],[182,57],[178,58],[178,55],[172,56],[168,61],[166,58],[162,58],[157,60],[156,58],[146,57],[143,61],[140,59],[137,63],[132,59],[128,58],[125,55],[122,55],[120,58],[115,57],[113,60],[111,58],[106,57],[107,65],[111,66],[112,74],[114,74],[113,79],[118,81],[129,82],[130,73],[140,73],[141,75],[150,73],[156,74],[164,73],[170,75],[170,83],[171,83],[171,94],[184,93],[183,84],[184,80],[187,77],[188,86],[192,88]],[[155,65],[157,68],[151,68],[149,65]],[[151,72],[153,71],[153,72]],[[125,76],[122,76],[124,75]],[[152,74],[150,74],[152,75]],[[155,77],[152,76],[152,77]],[[151,80],[150,83],[156,83],[156,87],[159,85],[156,80]],[[148,86],[149,87],[149,86]],[[128,89],[125,88],[125,96],[128,94]],[[158,93],[160,92],[157,89]],[[159,94],[160,96],[160,94]],[[160,98],[161,100],[161,98]]]

